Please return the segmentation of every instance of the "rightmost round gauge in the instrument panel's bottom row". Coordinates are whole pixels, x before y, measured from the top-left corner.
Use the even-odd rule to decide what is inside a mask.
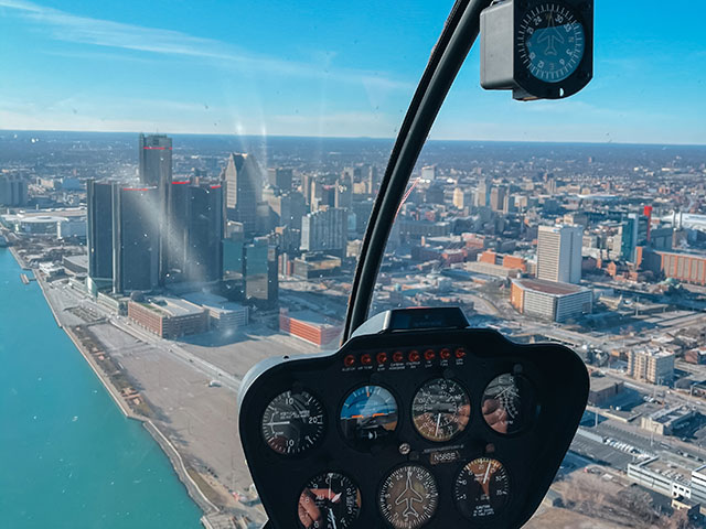
[[[478,520],[500,515],[510,501],[510,477],[496,460],[481,457],[466,465],[453,485],[461,514]]]

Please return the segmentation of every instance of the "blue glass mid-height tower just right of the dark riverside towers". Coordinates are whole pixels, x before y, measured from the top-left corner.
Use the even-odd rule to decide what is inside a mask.
[[[245,296],[265,307],[276,305],[279,296],[277,247],[267,237],[256,237],[245,246]]]

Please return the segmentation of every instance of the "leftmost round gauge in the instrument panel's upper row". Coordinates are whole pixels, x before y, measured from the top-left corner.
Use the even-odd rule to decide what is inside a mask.
[[[323,406],[307,391],[285,391],[267,406],[260,427],[265,442],[275,452],[301,454],[323,436]]]

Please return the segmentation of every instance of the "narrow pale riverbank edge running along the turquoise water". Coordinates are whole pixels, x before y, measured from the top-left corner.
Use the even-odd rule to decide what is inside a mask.
[[[12,257],[14,258],[15,262],[20,266],[20,268],[25,269],[22,262],[22,259],[17,253],[17,251],[14,251],[12,247],[9,247],[8,249],[10,249]],[[90,357],[90,355],[85,349],[81,341],[73,333],[73,331],[61,323],[61,320],[58,319],[58,314],[56,313],[51,302],[51,299],[46,293],[46,281],[41,277],[40,273],[38,273],[36,270],[33,270],[33,274],[34,274],[34,278],[36,279],[36,282],[40,285],[44,301],[46,302],[46,305],[52,312],[52,316],[54,317],[56,325],[64,331],[66,336],[68,336],[71,342],[74,344],[74,347],[78,350],[81,356],[83,356],[83,358],[86,360],[86,363],[93,370],[94,375],[98,378],[98,380],[100,381],[100,385],[108,392],[113,402],[117,406],[118,410],[120,410],[122,415],[126,419],[140,422],[145,428],[145,430],[147,430],[150,436],[158,444],[160,450],[168,457],[172,466],[172,471],[174,472],[179,481],[182,483],[182,485],[186,488],[186,494],[189,495],[191,500],[194,501],[199,507],[199,509],[202,511],[203,516],[201,517],[201,523],[206,528],[213,527],[212,523],[210,523],[208,521],[208,517],[211,515],[218,515],[222,512],[222,510],[206,497],[205,493],[199,487],[196,482],[194,482],[194,479],[189,475],[182,454],[176,450],[174,444],[167,438],[167,435],[164,435],[164,433],[159,429],[159,427],[154,424],[154,422],[130,410],[128,404],[124,401],[122,397],[120,396],[118,389],[113,385],[109,377],[103,371],[100,366],[97,365],[94,358]]]

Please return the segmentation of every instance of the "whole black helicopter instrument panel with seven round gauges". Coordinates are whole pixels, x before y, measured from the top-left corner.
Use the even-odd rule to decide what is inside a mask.
[[[414,327],[248,373],[240,439],[268,527],[516,528],[539,506],[586,407],[584,363],[490,330]]]

